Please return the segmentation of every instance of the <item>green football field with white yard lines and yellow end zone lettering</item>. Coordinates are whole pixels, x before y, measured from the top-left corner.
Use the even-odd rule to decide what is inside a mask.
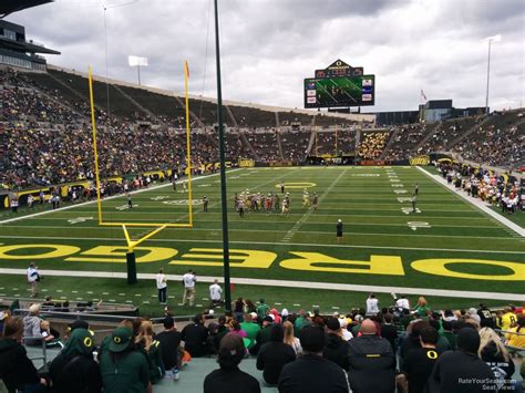
[[[433,307],[476,306],[482,299],[470,294],[473,291],[488,292],[483,301],[490,304],[525,299],[524,238],[414,167],[250,168],[233,169],[227,178],[231,277],[234,282],[254,280],[237,281],[233,297],[262,297],[277,308],[292,310],[319,306],[327,312],[363,307],[372,290],[388,306],[392,302],[390,287],[414,292],[409,296],[413,303],[421,292]],[[280,182],[291,196],[290,215],[254,211],[243,219],[236,214],[235,193],[248,188],[280,194]],[[410,213],[411,204],[403,198],[411,196],[416,183],[419,213]],[[317,211],[301,206],[303,187],[318,193]],[[166,228],[141,244],[136,249],[140,273],[156,273],[164,267],[168,275],[193,268],[198,277],[223,276],[218,175],[195,179],[193,192],[194,228]],[[204,195],[210,199],[209,213],[203,213],[198,204]],[[104,220],[185,223],[184,200],[187,194],[181,186],[174,192],[169,184],[155,185],[133,195],[132,210],[125,207],[125,197],[104,200]],[[1,268],[24,269],[34,261],[44,276],[47,270],[83,271],[84,278],[50,275],[41,294],[127,301],[142,313],[161,313],[153,279],[127,286],[125,279],[111,278],[114,272],[125,272],[126,241],[122,228],[97,225],[96,204],[35,213],[22,209],[17,216],[10,211],[0,216]],[[14,217],[20,219],[9,221]],[[336,239],[339,218],[344,225],[341,244]],[[522,216],[515,221],[523,227]],[[130,234],[138,238],[151,230],[134,227]],[[96,271],[107,278],[89,278]],[[24,277],[4,272],[0,297],[24,297]],[[175,312],[206,308],[203,299],[208,296],[208,285],[197,287],[197,304],[202,306],[189,308],[177,306],[182,285],[168,282]],[[328,289],[331,285],[363,287]],[[445,292],[433,294],[432,290]],[[447,297],[447,290],[461,291],[464,298]],[[498,293],[507,294],[506,300]]]

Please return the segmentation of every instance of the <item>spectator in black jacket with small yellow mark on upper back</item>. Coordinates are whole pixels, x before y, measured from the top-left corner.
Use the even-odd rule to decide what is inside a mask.
[[[377,335],[377,325],[367,319],[361,335],[349,341],[349,380],[353,393],[392,392],[395,389],[395,356],[390,342]]]

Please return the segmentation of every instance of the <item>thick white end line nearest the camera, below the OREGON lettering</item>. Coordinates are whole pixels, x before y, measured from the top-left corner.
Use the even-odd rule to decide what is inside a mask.
[[[84,278],[119,278],[125,279],[127,276],[124,272],[113,271],[76,271],[76,270],[47,270],[41,269],[42,276],[56,277],[84,277]],[[2,275],[25,276],[25,269],[0,269]],[[138,279],[155,280],[155,273],[138,273]],[[166,275],[168,281],[174,283],[181,282],[182,275]],[[205,276],[198,277],[199,282],[214,282],[218,279],[224,283],[219,277]],[[456,291],[450,289],[429,289],[429,288],[406,288],[406,287],[382,287],[382,286],[360,286],[351,283],[333,283],[333,282],[313,282],[313,281],[289,281],[289,280],[265,280],[253,278],[231,278],[231,283],[246,286],[262,286],[262,287],[281,287],[281,288],[306,288],[306,289],[328,289],[339,291],[353,292],[379,292],[379,293],[403,293],[403,294],[420,294],[420,296],[436,296],[443,298],[464,298],[464,299],[498,299],[512,301],[525,301],[525,294],[519,293],[502,293],[502,292],[474,292],[474,291]],[[153,288],[153,287],[152,287]]]

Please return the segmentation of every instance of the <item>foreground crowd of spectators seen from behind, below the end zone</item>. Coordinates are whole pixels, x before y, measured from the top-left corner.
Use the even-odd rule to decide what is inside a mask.
[[[281,393],[463,392],[469,379],[469,392],[522,392],[512,353],[525,350],[523,307],[437,311],[420,297],[411,309],[392,296],[394,306],[380,307],[372,293],[366,308],[332,316],[239,298],[231,312],[208,322],[199,313],[181,331],[168,310],[162,332],[147,319],[125,319],[97,348],[87,322],[78,320],[45,375],[25,352],[34,344],[28,339],[52,332],[33,304],[23,320],[2,312],[0,379],[9,392],[151,392],[163,379],[178,380],[191,359],[214,356],[219,369],[205,376],[204,392],[260,392],[238,368],[246,358]]]

